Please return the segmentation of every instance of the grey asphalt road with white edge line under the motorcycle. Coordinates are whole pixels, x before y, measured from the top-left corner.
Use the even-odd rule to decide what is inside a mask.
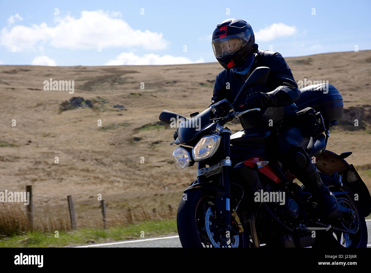
[[[367,247],[371,248],[371,220],[366,220],[366,224],[368,232]],[[90,244],[79,247],[182,247],[182,245],[180,243],[179,236],[175,235],[103,244]]]

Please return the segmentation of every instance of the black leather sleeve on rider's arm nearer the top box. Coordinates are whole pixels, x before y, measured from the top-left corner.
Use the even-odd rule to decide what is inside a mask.
[[[273,86],[278,86],[275,90],[267,94],[273,95],[272,107],[281,107],[292,104],[300,96],[298,84],[292,75],[291,69],[283,59],[282,55],[278,52],[269,58],[270,74],[273,77]]]

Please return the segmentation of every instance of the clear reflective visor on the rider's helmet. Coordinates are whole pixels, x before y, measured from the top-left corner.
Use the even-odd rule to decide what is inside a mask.
[[[214,55],[216,58],[231,55],[232,53],[239,51],[249,42],[251,33],[249,30],[239,33],[233,36],[227,36],[213,40],[211,45],[213,46]]]

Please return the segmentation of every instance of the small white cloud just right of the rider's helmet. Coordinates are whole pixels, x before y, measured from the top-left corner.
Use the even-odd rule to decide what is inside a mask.
[[[255,33],[257,42],[267,42],[279,37],[291,36],[296,32],[295,26],[288,26],[284,23],[274,23],[265,29],[259,29]]]

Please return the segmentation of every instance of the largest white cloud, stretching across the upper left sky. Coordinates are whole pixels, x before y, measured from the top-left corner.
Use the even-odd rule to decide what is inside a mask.
[[[164,49],[168,42],[162,33],[150,30],[132,29],[122,20],[119,12],[82,11],[76,19],[69,15],[56,17],[56,26],[46,23],[32,26],[3,27],[0,45],[10,51],[12,46],[17,51],[35,50],[38,43],[49,42],[56,48],[93,49],[101,46],[132,47],[141,46],[146,49]]]

